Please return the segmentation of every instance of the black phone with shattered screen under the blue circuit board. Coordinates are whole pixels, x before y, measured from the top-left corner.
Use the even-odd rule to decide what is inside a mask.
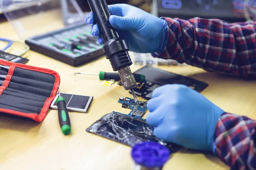
[[[86,131],[128,146],[151,141],[166,146],[171,152],[176,152],[180,149],[181,146],[177,144],[157,139],[153,135],[153,129],[146,122],[112,112],[102,116]]]

